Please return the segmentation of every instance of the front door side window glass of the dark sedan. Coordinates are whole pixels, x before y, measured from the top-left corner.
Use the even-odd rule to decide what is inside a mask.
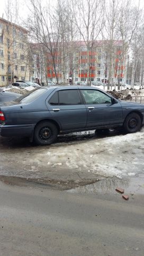
[[[112,103],[111,97],[97,90],[80,90],[86,104],[107,104]]]

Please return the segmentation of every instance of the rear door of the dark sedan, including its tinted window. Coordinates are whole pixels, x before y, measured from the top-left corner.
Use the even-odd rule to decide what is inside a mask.
[[[62,130],[86,128],[87,111],[78,90],[58,89],[48,99],[48,109]]]

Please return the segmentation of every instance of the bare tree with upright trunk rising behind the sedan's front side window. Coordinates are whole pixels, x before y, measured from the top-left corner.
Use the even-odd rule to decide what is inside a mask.
[[[91,85],[89,52],[92,52],[94,43],[103,28],[103,1],[71,0],[71,11],[74,14],[75,24],[87,49],[87,84]]]

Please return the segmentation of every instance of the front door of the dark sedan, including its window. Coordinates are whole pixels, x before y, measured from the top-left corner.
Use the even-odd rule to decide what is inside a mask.
[[[82,89],[87,109],[87,128],[109,126],[122,123],[121,104],[113,104],[111,96],[96,89]]]

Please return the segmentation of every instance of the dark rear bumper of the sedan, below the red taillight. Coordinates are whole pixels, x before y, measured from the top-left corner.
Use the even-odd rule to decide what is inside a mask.
[[[0,125],[2,137],[31,137],[35,124],[30,125]]]

